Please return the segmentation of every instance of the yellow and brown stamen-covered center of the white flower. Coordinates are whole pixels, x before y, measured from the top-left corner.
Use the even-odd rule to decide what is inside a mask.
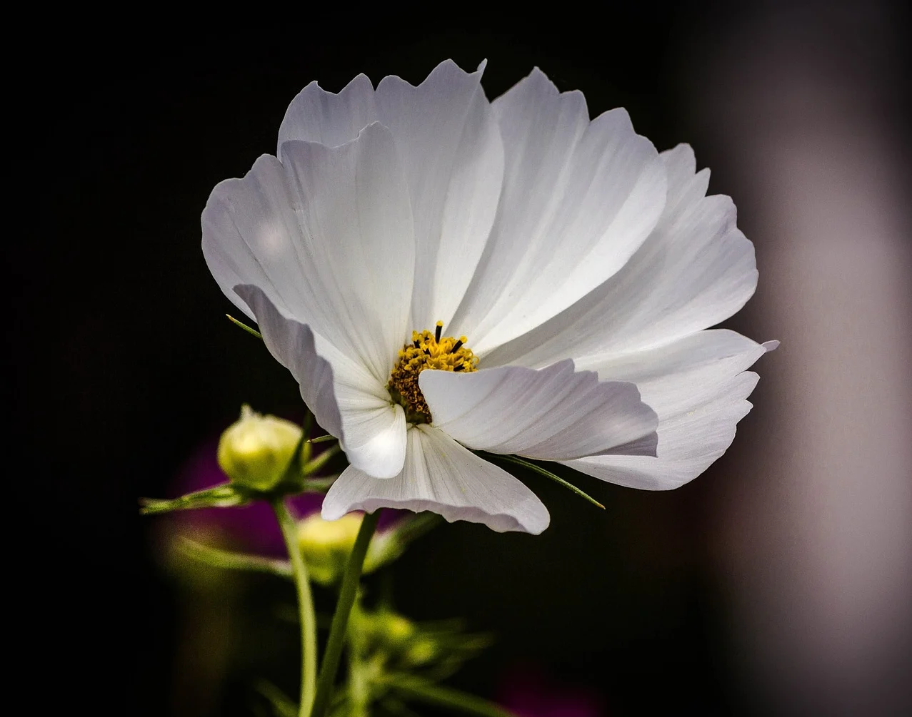
[[[405,409],[406,420],[411,424],[430,424],[431,416],[424,394],[418,387],[418,374],[431,368],[437,371],[478,371],[478,356],[459,339],[440,336],[443,322],[437,322],[434,333],[413,331],[411,343],[399,350],[399,360],[389,374],[389,395]]]

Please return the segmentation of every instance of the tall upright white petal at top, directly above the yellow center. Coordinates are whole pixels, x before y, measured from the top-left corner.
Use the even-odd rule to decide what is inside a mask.
[[[482,67],[440,63],[418,87],[384,77],[380,122],[396,139],[409,183],[417,249],[412,324],[449,323],[491,231],[503,182],[503,143]]]

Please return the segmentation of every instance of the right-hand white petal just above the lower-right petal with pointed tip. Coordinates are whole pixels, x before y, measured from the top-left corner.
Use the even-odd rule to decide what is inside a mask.
[[[735,226],[734,205],[704,196],[709,171],[694,174],[688,146],[661,157],[668,204],[648,241],[611,279],[486,356],[486,365],[543,366],[566,356],[596,361],[639,351],[719,323],[747,302],[757,267],[753,244]]]

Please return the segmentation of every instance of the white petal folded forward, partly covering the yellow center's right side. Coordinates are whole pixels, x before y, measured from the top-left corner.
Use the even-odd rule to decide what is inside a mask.
[[[475,450],[544,460],[655,456],[658,420],[637,386],[599,383],[593,372],[575,372],[573,361],[540,371],[424,371],[419,384],[433,425]]]

